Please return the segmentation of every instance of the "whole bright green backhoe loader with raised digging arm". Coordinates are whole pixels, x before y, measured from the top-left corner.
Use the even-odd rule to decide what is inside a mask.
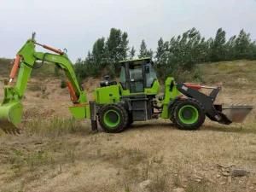
[[[37,52],[36,45],[54,53]],[[124,131],[134,121],[158,118],[171,119],[182,130],[197,130],[206,117],[230,125],[232,122],[242,122],[252,110],[252,106],[215,104],[221,90],[219,86],[176,83],[172,77],[166,79],[164,94],[160,95],[160,83],[150,58],[120,61],[119,83],[106,76],[95,90],[95,101],[88,102],[67,53],[38,44],[33,34],[18,51],[9,84],[3,88],[0,128],[7,133],[20,132],[21,101],[36,61],[53,63],[66,73],[67,88],[73,102],[69,110],[75,119],[90,119],[92,130],[97,130],[100,125],[103,131],[117,133]],[[211,93],[206,95],[201,89],[211,89]]]

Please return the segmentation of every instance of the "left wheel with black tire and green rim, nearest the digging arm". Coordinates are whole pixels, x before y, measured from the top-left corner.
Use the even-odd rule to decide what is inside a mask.
[[[124,131],[128,124],[128,113],[122,105],[105,105],[99,111],[99,123],[103,131],[106,132],[118,133]]]

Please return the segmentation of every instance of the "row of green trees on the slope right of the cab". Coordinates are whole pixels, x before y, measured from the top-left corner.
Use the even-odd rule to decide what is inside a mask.
[[[238,38],[226,42],[226,32],[219,28],[214,39],[203,38],[195,28],[164,42],[160,38],[154,56],[155,67],[161,79],[172,75],[178,81],[201,81],[201,72],[195,64],[209,61],[256,59],[256,43],[250,34],[241,30]]]

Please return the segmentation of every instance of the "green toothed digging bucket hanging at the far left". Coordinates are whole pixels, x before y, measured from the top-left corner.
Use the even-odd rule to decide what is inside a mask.
[[[22,116],[22,104],[10,102],[0,105],[0,128],[11,134],[20,133],[17,125],[20,124]]]

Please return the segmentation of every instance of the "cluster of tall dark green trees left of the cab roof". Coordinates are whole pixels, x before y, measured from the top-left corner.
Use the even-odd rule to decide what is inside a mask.
[[[92,52],[87,57],[79,59],[75,64],[75,72],[79,79],[97,77],[103,69],[111,76],[119,71],[119,61],[125,60],[129,55],[129,40],[127,32],[112,28],[107,40],[99,38],[93,45]],[[135,55],[135,49],[131,49],[130,57]]]

